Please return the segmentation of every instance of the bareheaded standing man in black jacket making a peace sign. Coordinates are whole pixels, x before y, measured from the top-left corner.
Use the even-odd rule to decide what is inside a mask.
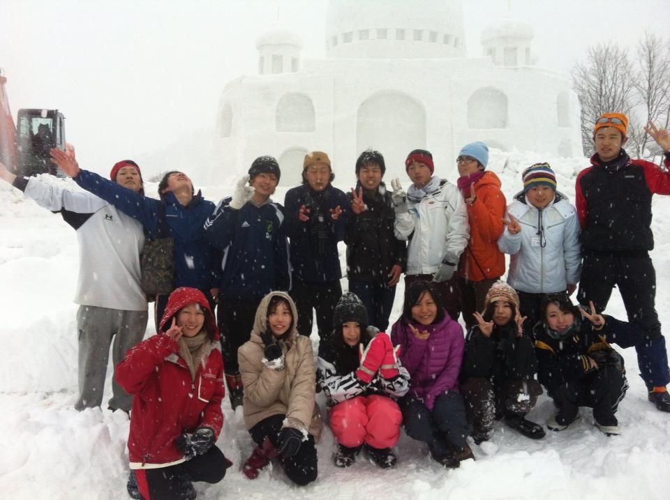
[[[349,199],[352,215],[346,225],[349,291],[365,305],[368,320],[387,331],[396,284],[405,267],[407,248],[394,235],[394,205],[382,177],[379,151],[364,151],[356,160],[356,188]]]

